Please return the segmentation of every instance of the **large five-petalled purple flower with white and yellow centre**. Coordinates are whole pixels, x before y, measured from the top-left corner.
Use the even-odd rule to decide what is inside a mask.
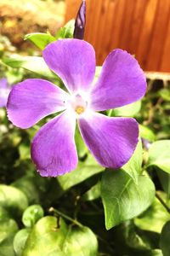
[[[95,53],[87,42],[58,40],[48,44],[42,55],[68,92],[46,80],[27,79],[16,84],[8,97],[8,118],[23,129],[65,110],[43,125],[31,143],[31,158],[38,172],[56,177],[77,167],[76,120],[84,142],[101,166],[123,166],[138,143],[139,125],[132,118],[110,118],[97,112],[144,96],[146,80],[138,62],[122,49],[113,50],[93,84]]]

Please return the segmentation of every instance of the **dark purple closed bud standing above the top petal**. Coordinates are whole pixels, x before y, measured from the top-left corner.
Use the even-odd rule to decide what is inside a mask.
[[[86,26],[86,1],[82,0],[82,4],[77,13],[75,22],[74,38],[83,39]]]

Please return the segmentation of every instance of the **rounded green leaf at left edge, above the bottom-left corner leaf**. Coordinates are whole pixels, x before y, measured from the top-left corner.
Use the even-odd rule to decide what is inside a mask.
[[[0,185],[0,206],[10,212],[14,217],[20,216],[28,207],[26,195],[12,186]]]

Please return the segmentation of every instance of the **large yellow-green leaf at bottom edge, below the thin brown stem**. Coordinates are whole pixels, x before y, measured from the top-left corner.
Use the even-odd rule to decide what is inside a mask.
[[[40,219],[26,241],[23,256],[42,255],[97,255],[98,242],[87,227],[67,226],[63,219]]]

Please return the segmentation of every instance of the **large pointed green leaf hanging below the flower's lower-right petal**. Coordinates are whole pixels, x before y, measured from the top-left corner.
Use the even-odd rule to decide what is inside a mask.
[[[139,176],[138,185],[126,172],[106,171],[101,181],[101,197],[105,208],[107,230],[138,216],[150,206],[155,186],[149,177]]]

